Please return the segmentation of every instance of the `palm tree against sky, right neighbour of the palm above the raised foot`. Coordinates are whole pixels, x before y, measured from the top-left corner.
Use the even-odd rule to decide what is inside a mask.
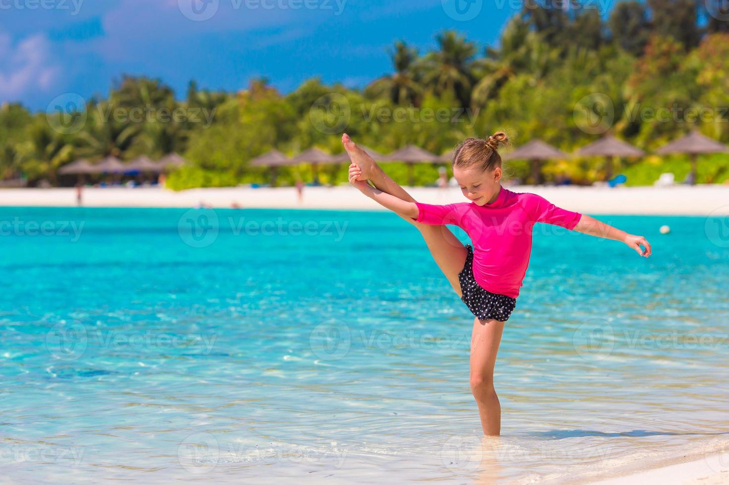
[[[476,46],[454,31],[440,33],[436,40],[439,49],[424,59],[423,82],[436,95],[449,93],[461,106],[469,106],[473,84],[471,63]]]

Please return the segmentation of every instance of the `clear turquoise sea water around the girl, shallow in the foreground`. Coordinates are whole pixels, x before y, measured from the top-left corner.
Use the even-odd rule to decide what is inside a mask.
[[[397,216],[2,208],[4,474],[528,483],[722,449],[726,221],[601,219],[653,256],[538,226],[482,441],[472,316]]]

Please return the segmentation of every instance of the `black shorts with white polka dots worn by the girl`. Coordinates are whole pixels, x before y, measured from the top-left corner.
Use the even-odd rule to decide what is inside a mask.
[[[473,248],[469,244],[466,264],[458,274],[461,282],[461,300],[466,304],[471,313],[479,320],[509,320],[511,312],[516,307],[516,299],[511,296],[499,295],[484,290],[473,277]]]

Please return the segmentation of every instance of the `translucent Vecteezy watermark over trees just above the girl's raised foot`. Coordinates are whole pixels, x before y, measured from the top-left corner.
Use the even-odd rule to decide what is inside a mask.
[[[479,109],[453,106],[452,108],[416,108],[401,106],[389,108],[375,103],[359,103],[352,106],[345,95],[330,92],[314,101],[309,109],[311,125],[326,135],[343,133],[351,122],[354,113],[360,114],[365,122],[380,123],[465,123],[472,128],[478,117]]]

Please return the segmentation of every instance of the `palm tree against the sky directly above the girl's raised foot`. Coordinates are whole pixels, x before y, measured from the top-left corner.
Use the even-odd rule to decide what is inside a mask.
[[[418,106],[423,91],[413,69],[418,51],[399,41],[390,52],[390,59],[395,73],[375,80],[367,91],[376,98],[389,98],[395,104]]]

